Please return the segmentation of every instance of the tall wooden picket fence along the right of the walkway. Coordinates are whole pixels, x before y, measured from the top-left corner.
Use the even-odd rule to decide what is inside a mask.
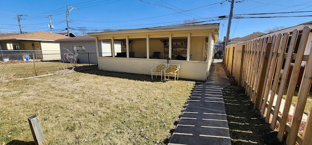
[[[304,131],[299,132],[312,82],[312,55],[304,55],[306,47],[312,49],[311,42],[308,43],[309,35],[312,36],[311,28],[306,27],[301,31],[294,30],[226,46],[224,63],[227,69],[238,85],[245,88],[246,94],[254,102],[254,109],[261,112],[271,129],[278,129],[277,138],[283,141],[285,137],[287,145],[312,143],[312,108]],[[302,61],[306,61],[306,65],[298,99],[293,114],[289,115]],[[285,89],[291,63],[293,69]],[[286,90],[284,109],[279,111],[283,107],[281,102]],[[290,124],[287,123],[289,117],[292,118]]]

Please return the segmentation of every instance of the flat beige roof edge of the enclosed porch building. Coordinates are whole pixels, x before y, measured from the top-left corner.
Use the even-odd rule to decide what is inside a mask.
[[[197,33],[197,36],[208,36],[208,32],[213,33],[215,40],[218,39],[219,23],[214,24],[202,24],[192,26],[176,26],[176,27],[153,27],[153,28],[142,28],[142,29],[131,29],[131,30],[117,30],[117,31],[106,31],[106,32],[92,32],[88,33],[90,36],[110,38],[110,37],[122,37],[125,36],[144,36],[144,35],[155,35],[155,37],[166,37],[168,34],[178,33]]]

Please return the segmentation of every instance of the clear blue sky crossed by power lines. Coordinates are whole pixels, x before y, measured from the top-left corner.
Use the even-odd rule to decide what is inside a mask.
[[[0,32],[70,32],[175,26],[195,21],[219,23],[219,39],[226,35],[231,0],[0,0]],[[270,13],[270,14],[268,14]],[[274,27],[312,21],[312,0],[235,0],[230,39]],[[224,27],[223,27],[224,26]]]

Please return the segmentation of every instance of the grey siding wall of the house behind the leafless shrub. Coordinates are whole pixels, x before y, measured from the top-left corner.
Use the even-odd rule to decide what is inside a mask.
[[[68,42],[62,41],[59,44],[60,44],[61,61],[68,62],[68,60],[66,60],[66,58],[63,57],[64,53],[68,53],[66,49],[68,49],[70,52],[73,52],[73,46],[85,46],[86,51],[78,51],[79,63],[98,64],[95,41],[68,41]],[[101,46],[100,42],[98,43],[98,46]]]

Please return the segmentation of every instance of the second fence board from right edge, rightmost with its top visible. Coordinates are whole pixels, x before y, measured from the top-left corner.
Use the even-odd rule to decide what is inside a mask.
[[[298,52],[296,55],[296,59],[294,61],[294,65],[292,68],[292,76],[291,76],[291,80],[289,81],[289,84],[296,84],[297,83],[297,79],[298,79],[299,71],[300,71],[300,67],[301,67],[301,62],[302,62],[302,58],[303,58],[303,53],[305,50],[304,48],[300,49],[300,47],[302,47],[301,45],[302,45],[303,41],[305,40],[305,38],[307,37],[306,39],[308,39],[308,35],[310,33],[310,29],[309,29],[309,32],[306,32],[306,31],[308,31],[306,28],[303,30],[304,32],[302,33],[302,36],[301,36],[301,40],[300,40]],[[307,34],[307,36],[305,36],[304,34]],[[284,110],[283,110],[283,114],[282,114],[282,122],[280,122],[279,131],[278,131],[278,135],[277,135],[277,137],[280,141],[282,141],[283,137],[284,137],[284,131],[286,128],[288,113],[289,113],[290,107],[292,105],[292,97],[293,97],[293,93],[295,91],[295,87],[296,87],[296,85],[289,85],[288,86],[287,96],[286,96],[286,100],[285,100],[285,106],[284,106]]]

